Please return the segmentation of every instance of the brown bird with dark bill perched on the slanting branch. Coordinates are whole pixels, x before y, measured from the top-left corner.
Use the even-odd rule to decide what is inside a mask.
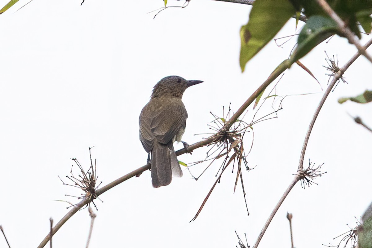
[[[186,128],[187,111],[182,95],[188,87],[199,83],[203,81],[186,80],[179,76],[164,77],[155,84],[150,102],[141,111],[140,141],[148,152],[147,162],[151,163],[154,188],[170,184],[172,175],[182,177],[173,143],[181,141]],[[187,143],[183,144],[187,148]]]

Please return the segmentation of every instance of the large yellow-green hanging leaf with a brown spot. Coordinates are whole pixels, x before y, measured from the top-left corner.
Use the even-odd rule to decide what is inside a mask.
[[[289,0],[256,0],[249,21],[240,29],[240,67],[257,54],[296,13]]]

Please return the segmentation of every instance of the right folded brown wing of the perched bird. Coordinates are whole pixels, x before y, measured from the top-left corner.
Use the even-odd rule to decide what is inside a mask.
[[[158,142],[168,144],[174,136],[186,128],[187,112],[180,99],[167,102],[164,106],[153,117],[150,129]]]

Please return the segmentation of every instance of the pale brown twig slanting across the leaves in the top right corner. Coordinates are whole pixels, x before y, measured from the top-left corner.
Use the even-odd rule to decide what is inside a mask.
[[[359,53],[364,55],[371,63],[372,57],[366,52],[366,48],[360,44],[357,36],[350,30],[350,28],[344,23],[344,21],[334,12],[334,10],[328,5],[325,0],[317,0],[320,7],[337,23],[340,31],[346,36],[347,40],[356,46]]]

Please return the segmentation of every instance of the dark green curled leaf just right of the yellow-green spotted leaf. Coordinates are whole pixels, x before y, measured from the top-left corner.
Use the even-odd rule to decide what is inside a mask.
[[[304,57],[311,49],[338,30],[336,22],[330,17],[311,16],[298,36],[298,45],[291,58],[292,63]]]

